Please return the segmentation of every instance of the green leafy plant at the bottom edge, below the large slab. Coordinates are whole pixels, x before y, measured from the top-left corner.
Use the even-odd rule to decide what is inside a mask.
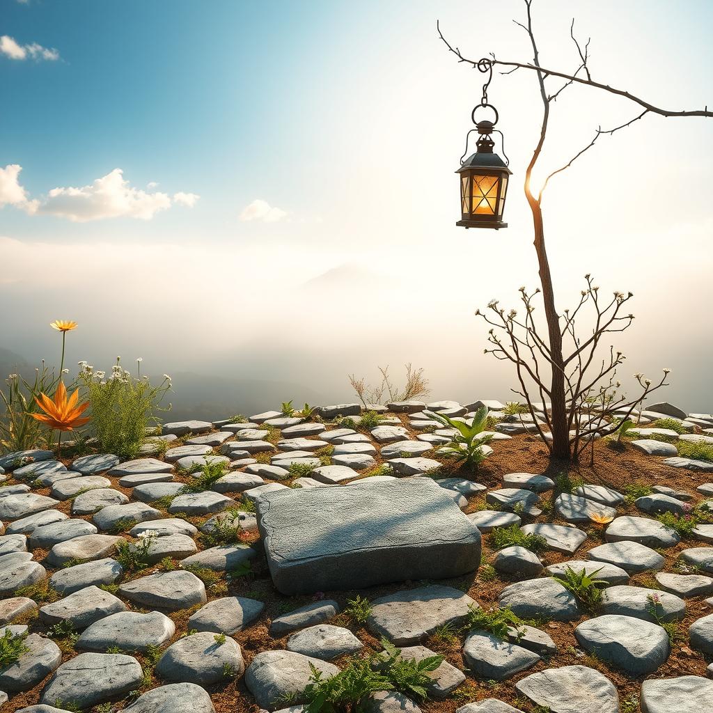
[[[369,694],[396,690],[409,698],[423,700],[429,673],[443,662],[442,656],[421,661],[404,659],[396,647],[382,639],[384,652],[369,657],[352,657],[337,674],[325,677],[312,663],[312,675],[304,689],[305,713],[356,712]]]

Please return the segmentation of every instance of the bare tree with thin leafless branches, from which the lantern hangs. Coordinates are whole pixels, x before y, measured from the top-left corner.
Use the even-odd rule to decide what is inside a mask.
[[[575,419],[578,418],[578,416],[573,415],[573,409],[580,408],[581,401],[583,398],[593,398],[591,390],[600,388],[601,379],[615,371],[616,366],[619,366],[621,361],[619,361],[617,356],[615,356],[617,353],[612,351],[612,363],[609,366],[607,366],[607,364],[604,364],[602,366],[600,380],[595,381],[589,386],[589,392],[586,388],[583,389],[583,387],[587,386],[587,381],[585,380],[584,374],[584,371],[586,371],[586,369],[584,371],[583,369],[579,369],[578,376],[576,376],[576,378],[573,377],[571,372],[570,377],[568,377],[568,365],[572,364],[573,360],[575,361],[575,364],[579,364],[578,360],[580,359],[580,356],[582,356],[583,351],[591,347],[592,354],[589,356],[589,361],[585,360],[584,362],[584,364],[590,364],[594,360],[594,352],[597,346],[599,346],[600,339],[602,338],[602,336],[607,332],[622,331],[622,329],[612,329],[611,327],[613,324],[618,324],[618,322],[616,321],[617,319],[627,319],[618,317],[616,315],[618,315],[619,308],[627,301],[627,299],[629,299],[629,297],[617,297],[617,295],[620,295],[620,293],[615,293],[615,299],[612,303],[612,309],[614,309],[615,311],[615,321],[611,323],[607,323],[607,320],[605,319],[603,314],[600,314],[600,306],[595,303],[597,317],[595,320],[594,333],[592,337],[585,340],[585,342],[581,342],[579,346],[575,347],[573,354],[570,354],[565,358],[563,354],[563,337],[565,337],[565,335],[570,335],[575,340],[575,344],[577,344],[579,337],[576,337],[575,334],[572,334],[572,330],[574,329],[574,323],[572,322],[568,325],[568,318],[565,316],[565,314],[559,314],[557,308],[555,307],[555,294],[552,284],[552,275],[550,274],[550,263],[547,256],[547,250],[545,249],[545,229],[542,215],[542,199],[545,188],[547,187],[551,178],[568,169],[575,162],[575,160],[577,160],[578,158],[580,158],[580,156],[590,150],[590,148],[595,145],[597,140],[602,135],[612,135],[613,133],[623,128],[627,128],[636,121],[644,118],[644,116],[646,116],[648,113],[655,113],[659,114],[660,116],[668,117],[713,117],[713,111],[708,111],[707,107],[704,109],[697,109],[692,111],[679,111],[660,108],[653,105],[652,103],[644,101],[643,99],[637,96],[634,96],[630,92],[623,91],[608,84],[603,84],[593,80],[589,68],[590,41],[588,40],[586,43],[581,43],[580,41],[578,41],[578,39],[575,38],[574,20],[572,21],[572,24],[570,26],[570,38],[574,43],[578,55],[577,69],[574,73],[568,74],[543,67],[540,64],[540,53],[538,51],[537,42],[535,41],[535,35],[533,34],[533,0],[524,0],[524,2],[527,12],[527,21],[525,23],[515,21],[515,24],[521,27],[528,35],[528,39],[530,41],[530,45],[533,51],[533,60],[530,63],[504,61],[501,59],[497,59],[496,56],[492,53],[491,58],[486,58],[480,61],[473,61],[464,57],[458,47],[452,46],[451,43],[446,40],[446,38],[441,33],[441,29],[438,24],[436,25],[436,28],[438,29],[438,36],[441,38],[441,40],[443,40],[444,43],[446,43],[448,50],[458,57],[458,61],[460,62],[468,63],[474,68],[478,68],[480,71],[489,71],[493,66],[508,67],[506,71],[501,72],[502,74],[511,74],[514,71],[518,71],[520,69],[530,70],[535,72],[535,76],[537,77],[540,98],[542,100],[543,105],[542,124],[540,128],[540,137],[538,143],[535,146],[535,149],[533,150],[532,158],[530,158],[530,163],[528,163],[528,167],[525,170],[524,188],[525,198],[527,198],[528,200],[528,205],[530,205],[530,210],[533,215],[534,245],[535,252],[537,253],[538,257],[540,283],[542,285],[542,299],[545,309],[545,317],[547,319],[547,342],[545,342],[537,334],[535,334],[533,324],[530,324],[528,322],[527,315],[525,315],[525,321],[520,322],[520,324],[523,324],[524,327],[520,327],[520,324],[516,324],[514,321],[508,323],[508,317],[503,317],[504,312],[498,312],[497,307],[496,313],[503,317],[506,322],[506,326],[503,327],[503,329],[508,332],[508,337],[510,338],[511,352],[514,354],[513,358],[515,359],[515,364],[518,368],[518,376],[523,373],[523,371],[527,373],[528,376],[534,379],[535,383],[538,384],[538,390],[540,391],[540,396],[543,398],[543,401],[549,400],[551,402],[550,414],[548,414],[547,416],[548,427],[551,432],[551,438],[547,441],[550,446],[550,452],[556,458],[569,459],[576,458],[578,456],[578,448],[580,447],[579,438],[576,434],[574,439],[570,438],[570,429],[572,428]],[[552,86],[552,82],[555,79],[563,80],[563,82],[560,82],[558,86]],[[557,100],[558,96],[560,96],[563,91],[565,91],[568,87],[573,86],[574,84],[580,84],[588,86],[590,88],[600,89],[601,91],[605,91],[610,94],[622,96],[632,101],[632,103],[637,104],[642,111],[640,111],[637,116],[633,117],[625,123],[622,123],[619,126],[615,126],[614,128],[602,129],[601,126],[598,127],[595,130],[595,134],[588,143],[588,145],[585,145],[585,147],[581,149],[575,156],[573,156],[573,158],[571,158],[567,163],[565,163],[565,165],[561,166],[556,170],[553,170],[553,172],[550,173],[547,178],[545,178],[543,186],[542,188],[540,188],[539,192],[533,193],[533,190],[530,186],[530,179],[532,177],[533,168],[535,168],[535,165],[538,163],[540,154],[543,150],[543,146],[545,145],[545,138],[547,137],[548,123],[550,119],[550,108],[553,102]],[[594,295],[592,290],[592,284],[591,282],[589,282],[589,289],[583,292],[583,296],[585,294],[587,296],[587,299],[585,301],[595,302],[595,300],[593,300]],[[523,299],[525,299],[528,309],[529,307],[533,307],[533,305],[531,304],[531,299],[533,296],[525,294],[524,291],[521,292],[523,292]],[[564,322],[564,327],[562,322]],[[498,327],[500,326],[501,325],[498,324]],[[524,343],[513,341],[513,334],[515,334],[517,329],[524,329],[525,332],[528,333],[528,337],[525,339]],[[493,333],[491,332],[491,336],[492,334]],[[535,366],[529,363],[528,359],[531,359],[533,354],[532,352],[530,352],[530,348],[527,346],[528,339],[530,340],[530,342],[533,342],[533,349],[538,350],[541,359],[543,359],[543,357],[545,357],[546,355],[546,358],[544,358],[543,361],[545,361],[548,366],[548,375],[540,374],[540,371],[535,371]],[[517,349],[515,349],[516,346],[518,347]],[[520,349],[520,347],[522,347],[522,349]],[[511,358],[510,356],[503,356],[502,343],[498,347],[496,347],[496,350],[500,350],[497,352],[496,356],[500,356],[504,359]],[[491,351],[493,353],[496,353],[496,350]],[[545,386],[545,376],[548,376],[547,386]],[[573,383],[570,382],[570,378],[575,378],[575,381]],[[530,412],[534,416],[535,409],[533,409],[533,405],[530,402],[528,391],[527,389],[525,389],[525,383],[522,379],[520,380],[520,384],[523,387],[523,396],[528,401],[528,406],[530,406]],[[645,388],[645,394],[648,393],[648,391],[646,391],[647,386],[645,384],[645,381],[641,381],[641,384]],[[660,386],[663,385],[664,384],[662,381]],[[648,390],[651,391],[652,389]],[[585,396],[585,394],[587,395]],[[545,396],[547,396],[548,398],[545,399]],[[643,396],[640,396],[640,399],[642,398]],[[633,407],[634,406],[631,406],[632,409]],[[576,441],[576,443],[574,443],[573,440]]]

